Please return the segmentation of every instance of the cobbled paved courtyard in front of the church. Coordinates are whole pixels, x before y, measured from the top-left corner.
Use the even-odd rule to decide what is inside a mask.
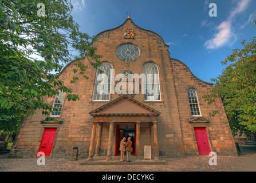
[[[219,171],[256,171],[256,147],[242,149],[247,156],[217,156],[217,165],[209,165],[209,156],[186,156],[180,158],[162,158],[165,165],[82,165],[86,161],[78,158],[70,161],[68,158],[46,158],[45,165],[37,165],[37,158],[7,158],[8,154],[0,155],[0,172],[219,172]],[[134,159],[134,157],[133,157]],[[118,159],[116,159],[118,161]],[[135,161],[135,160],[132,160]]]

